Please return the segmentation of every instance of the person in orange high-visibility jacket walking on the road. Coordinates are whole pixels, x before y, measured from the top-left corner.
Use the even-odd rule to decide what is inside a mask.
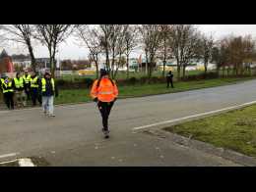
[[[97,104],[97,108],[102,117],[102,132],[105,138],[109,137],[108,117],[111,108],[118,96],[118,88],[116,83],[108,76],[108,72],[100,70],[99,79],[96,79],[91,96]]]

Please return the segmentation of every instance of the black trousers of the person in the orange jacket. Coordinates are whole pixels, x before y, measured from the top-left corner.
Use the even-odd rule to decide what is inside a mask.
[[[108,130],[108,117],[110,115],[113,104],[114,102],[97,102],[97,107],[102,117],[103,129],[106,131]]]

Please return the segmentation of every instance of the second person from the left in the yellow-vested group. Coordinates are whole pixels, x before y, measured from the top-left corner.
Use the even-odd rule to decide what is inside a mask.
[[[16,77],[13,79],[15,89],[15,101],[18,106],[25,107],[27,105],[25,95],[25,80],[21,75],[21,72],[16,73]]]

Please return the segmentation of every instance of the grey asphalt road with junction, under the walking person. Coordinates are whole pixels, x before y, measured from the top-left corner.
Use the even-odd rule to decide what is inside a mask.
[[[17,153],[43,157],[50,166],[239,166],[133,128],[254,100],[256,80],[118,100],[108,140],[102,137],[95,103],[56,107],[55,118],[44,117],[39,108],[0,111],[0,162]]]

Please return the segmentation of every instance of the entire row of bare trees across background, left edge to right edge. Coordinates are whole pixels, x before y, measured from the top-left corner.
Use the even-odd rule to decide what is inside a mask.
[[[163,61],[162,75],[167,60],[174,58],[180,78],[181,74],[185,76],[186,67],[198,60],[204,61],[205,72],[208,63],[213,61],[218,69],[227,66],[239,74],[244,71],[244,63],[251,63],[255,56],[255,42],[251,36],[230,36],[214,41],[212,35],[203,34],[194,24],[3,24],[0,29],[5,31],[5,39],[27,46],[34,70],[33,45],[45,45],[53,74],[58,45],[71,34],[81,46],[89,49],[89,59],[96,64],[96,73],[99,59],[103,58],[113,78],[123,65],[129,77],[129,58],[136,49],[145,53],[145,72],[149,77],[157,58]]]

